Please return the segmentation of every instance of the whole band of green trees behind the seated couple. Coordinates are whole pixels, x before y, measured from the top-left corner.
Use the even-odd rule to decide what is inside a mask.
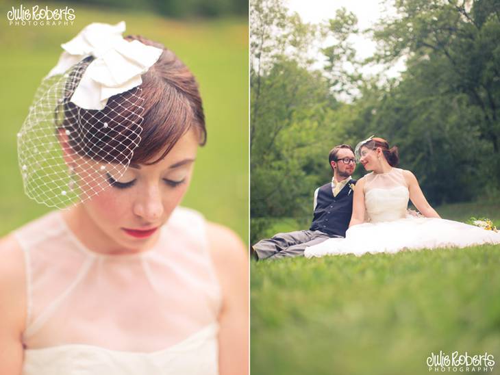
[[[374,27],[379,48],[360,62],[346,10],[308,25],[280,0],[251,1],[252,218],[310,214],[331,176],[329,148],[371,134],[399,147],[432,205],[499,200],[499,1],[387,2],[397,14]],[[397,79],[360,74],[401,57]]]

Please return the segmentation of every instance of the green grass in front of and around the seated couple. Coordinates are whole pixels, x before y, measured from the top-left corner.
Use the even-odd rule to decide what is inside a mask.
[[[438,211],[498,223],[498,207]],[[251,374],[429,374],[440,350],[498,363],[499,268],[500,246],[253,261]]]

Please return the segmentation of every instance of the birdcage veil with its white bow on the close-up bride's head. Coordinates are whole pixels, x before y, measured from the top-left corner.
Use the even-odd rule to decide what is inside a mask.
[[[140,75],[162,49],[128,42],[124,30],[125,23],[86,27],[62,44],[60,62],[36,90],[17,143],[25,192],[38,203],[85,201],[129,167],[145,111]]]

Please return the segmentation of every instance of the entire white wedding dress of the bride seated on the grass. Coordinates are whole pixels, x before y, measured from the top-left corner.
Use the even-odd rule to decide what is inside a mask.
[[[349,228],[345,238],[331,238],[306,248],[305,257],[500,244],[500,232],[452,220],[408,215],[410,192],[399,168],[381,174],[372,172],[365,179],[365,222]]]

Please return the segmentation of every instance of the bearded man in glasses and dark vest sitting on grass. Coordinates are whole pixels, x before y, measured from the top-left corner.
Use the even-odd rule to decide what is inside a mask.
[[[330,237],[345,237],[353,211],[351,178],[355,168],[353,148],[347,144],[335,146],[328,155],[334,177],[331,183],[314,192],[314,217],[308,231],[278,233],[252,246],[257,259],[278,259],[303,256],[307,246],[319,244]]]

